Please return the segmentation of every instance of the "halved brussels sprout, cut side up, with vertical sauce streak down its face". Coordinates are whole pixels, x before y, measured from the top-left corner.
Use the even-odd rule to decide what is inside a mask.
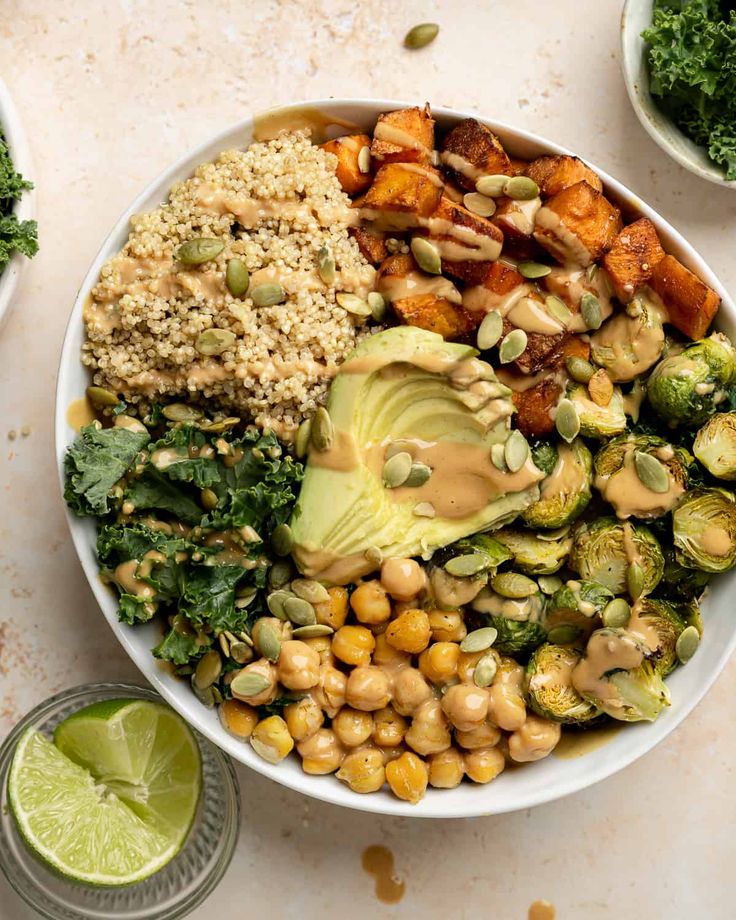
[[[664,556],[648,528],[606,517],[575,526],[569,565],[585,581],[596,581],[614,594],[629,590],[639,596],[659,584]],[[634,567],[641,581],[636,592],[630,590]]]

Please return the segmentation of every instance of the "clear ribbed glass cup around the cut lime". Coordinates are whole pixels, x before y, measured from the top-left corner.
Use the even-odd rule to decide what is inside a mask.
[[[214,890],[232,859],[240,829],[240,790],[230,758],[194,732],[202,755],[202,796],[181,851],[154,875],[119,888],[69,881],[23,842],[7,801],[10,763],[28,728],[47,737],[73,712],[100,700],[162,702],[134,684],[87,684],[41,703],[15,726],[0,748],[0,868],[18,894],[50,920],[173,920],[184,917]]]

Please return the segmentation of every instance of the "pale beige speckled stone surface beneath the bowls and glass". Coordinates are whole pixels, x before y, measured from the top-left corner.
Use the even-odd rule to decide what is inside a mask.
[[[669,161],[619,71],[619,0],[2,0],[0,67],[36,164],[41,251],[0,333],[0,731],[66,686],[138,673],[99,615],[62,516],[52,410],[77,287],[117,215],[189,147],[250,112],[328,95],[477,110],[627,183],[736,289],[736,195]],[[401,48],[418,21],[442,31]],[[27,437],[8,439],[30,427]],[[417,822],[302,798],[244,768],[232,867],[192,916],[729,920],[736,892],[736,662],[618,776],[515,815]],[[406,881],[382,905],[361,852]],[[0,883],[0,917],[31,916]]]

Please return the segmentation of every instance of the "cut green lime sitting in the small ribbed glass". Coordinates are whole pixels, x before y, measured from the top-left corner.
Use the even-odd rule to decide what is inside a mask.
[[[27,731],[8,803],[28,846],[68,878],[129,885],[181,849],[202,788],[196,739],[158,703],[112,700],[74,713],[55,745]]]

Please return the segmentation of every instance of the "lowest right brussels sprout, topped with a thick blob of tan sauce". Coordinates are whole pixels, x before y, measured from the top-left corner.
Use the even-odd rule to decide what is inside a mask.
[[[572,672],[572,685],[614,719],[653,722],[669,691],[647,645],[626,629],[598,629]]]

